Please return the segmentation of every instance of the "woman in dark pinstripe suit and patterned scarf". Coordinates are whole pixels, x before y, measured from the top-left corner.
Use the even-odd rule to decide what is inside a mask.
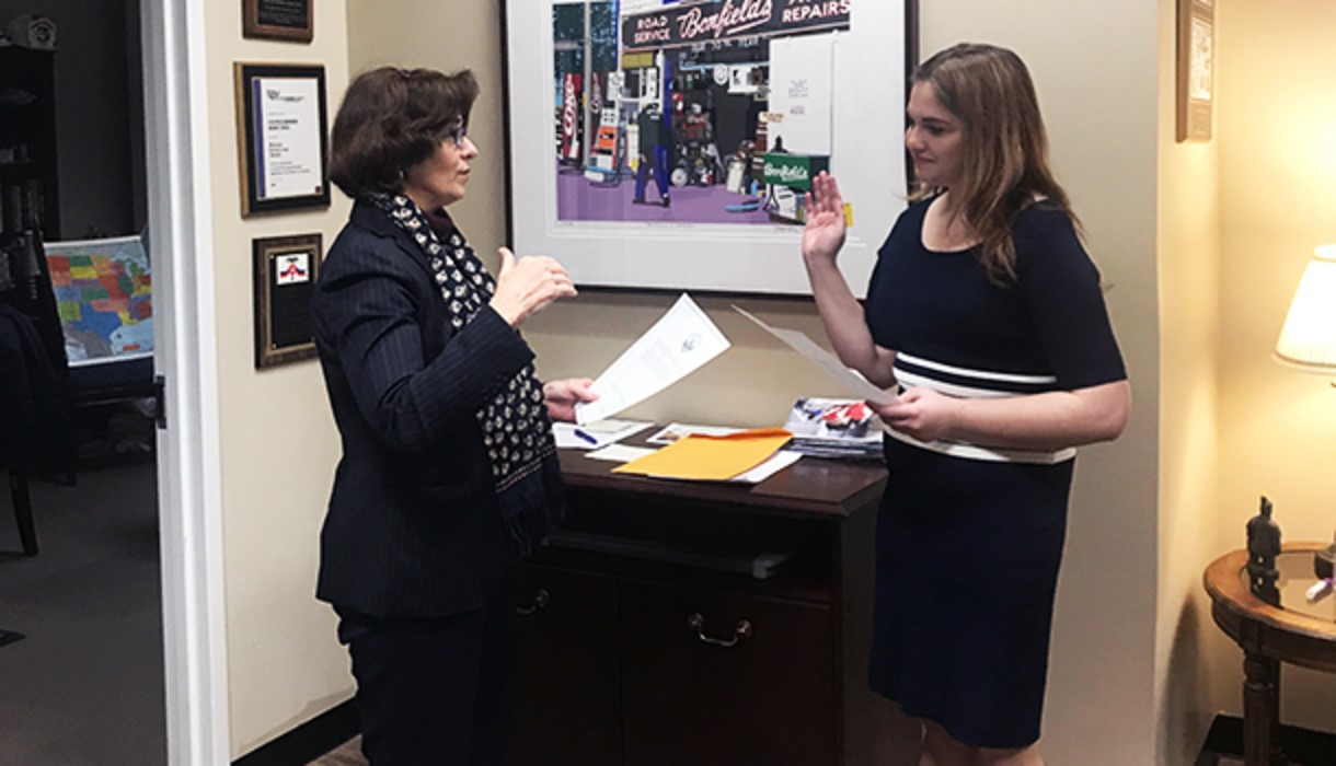
[[[465,195],[468,71],[349,85],[330,177],[355,200],[311,299],[343,456],[317,597],[339,615],[373,765],[497,765],[510,706],[513,559],[564,510],[549,418],[591,380],[538,383],[520,324],[576,294],[501,248],[496,279],[445,208]]]

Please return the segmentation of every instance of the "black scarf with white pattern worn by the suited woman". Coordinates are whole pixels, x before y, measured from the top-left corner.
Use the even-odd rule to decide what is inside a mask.
[[[403,195],[371,195],[370,203],[422,250],[445,299],[454,331],[488,304],[496,280],[464,236],[450,228],[445,243],[417,203]],[[564,515],[561,470],[542,383],[530,362],[476,414],[492,462],[492,479],[516,558],[528,555]]]

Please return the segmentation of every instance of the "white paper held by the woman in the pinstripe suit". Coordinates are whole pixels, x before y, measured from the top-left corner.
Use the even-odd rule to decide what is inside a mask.
[[[584,426],[639,404],[728,348],[728,339],[684,292],[631,348],[593,382],[597,402],[576,404]]]

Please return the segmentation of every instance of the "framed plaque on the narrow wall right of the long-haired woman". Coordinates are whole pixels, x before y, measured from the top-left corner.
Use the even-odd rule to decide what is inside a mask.
[[[1178,0],[1176,137],[1209,141],[1216,71],[1216,1]]]

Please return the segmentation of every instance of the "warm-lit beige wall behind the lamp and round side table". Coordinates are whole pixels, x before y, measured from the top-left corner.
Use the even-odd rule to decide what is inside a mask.
[[[1217,551],[1241,547],[1259,495],[1285,540],[1336,527],[1336,391],[1272,362],[1304,264],[1336,242],[1336,88],[1327,0],[1220,5],[1220,495]],[[1241,658],[1213,627],[1214,707],[1238,714]],[[1289,723],[1336,731],[1332,678],[1285,669]]]

